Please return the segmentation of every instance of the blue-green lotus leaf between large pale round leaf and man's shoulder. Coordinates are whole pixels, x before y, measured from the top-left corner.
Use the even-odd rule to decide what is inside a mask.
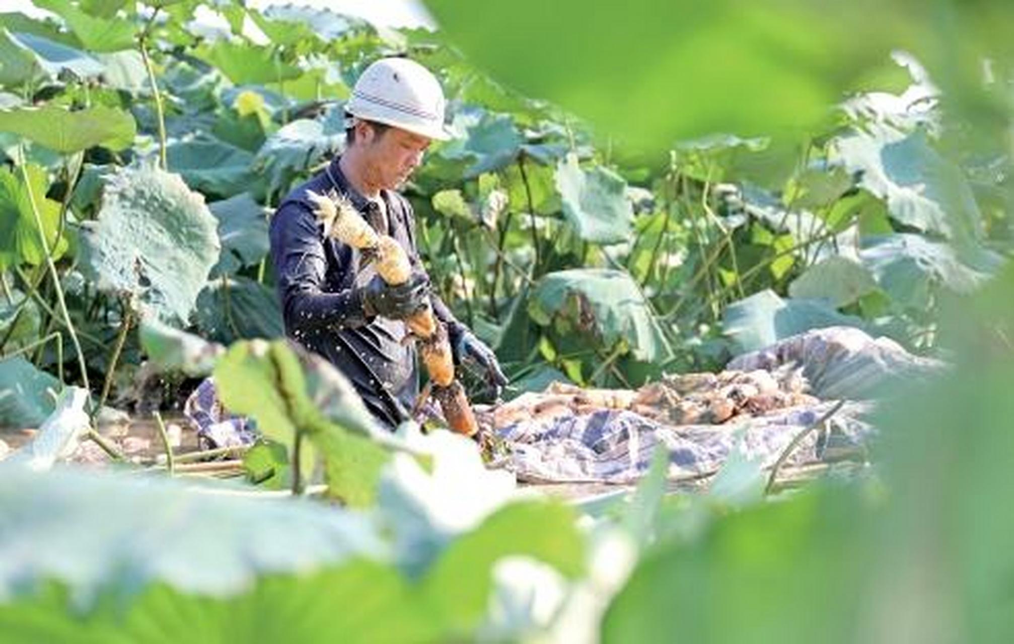
[[[211,271],[212,277],[232,274],[264,259],[271,247],[268,214],[249,192],[214,202],[208,208],[218,220],[218,238],[222,242],[222,254]]]

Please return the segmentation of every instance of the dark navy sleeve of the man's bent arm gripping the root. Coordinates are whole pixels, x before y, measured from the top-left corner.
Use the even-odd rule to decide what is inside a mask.
[[[271,222],[271,258],[289,335],[298,338],[322,327],[357,327],[370,321],[357,291],[323,291],[323,242],[313,214],[305,205],[288,202],[275,213]]]

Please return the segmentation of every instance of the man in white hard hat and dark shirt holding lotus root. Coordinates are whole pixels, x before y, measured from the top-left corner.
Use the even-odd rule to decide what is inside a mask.
[[[415,218],[395,191],[433,140],[446,140],[444,97],[423,66],[379,60],[356,82],[346,105],[346,151],[294,189],[271,222],[271,255],[286,333],[329,360],[355,386],[367,409],[388,427],[408,417],[419,393],[416,348],[403,342],[403,320],[427,305],[447,324],[454,360],[475,365],[499,388],[507,384],[496,355],[430,293],[416,249]],[[414,272],[386,285],[357,249],[324,238],[307,191],[345,194],[378,232],[409,253]]]

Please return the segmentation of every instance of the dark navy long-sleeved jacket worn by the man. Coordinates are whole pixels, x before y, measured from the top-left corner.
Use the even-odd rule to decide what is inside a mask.
[[[330,237],[317,223],[307,190],[323,194],[337,190],[348,195],[374,223],[377,205],[353,188],[336,158],[323,171],[298,186],[282,200],[271,221],[271,258],[282,302],[286,334],[322,355],[352,381],[367,409],[388,427],[405,420],[419,394],[419,368],[414,343],[403,343],[404,322],[367,317],[357,289],[375,274],[372,264],[360,265],[360,252]],[[381,196],[387,207],[389,229],[413,263],[416,249],[415,217],[409,202],[390,190]],[[433,309],[453,335],[458,322],[436,296]]]

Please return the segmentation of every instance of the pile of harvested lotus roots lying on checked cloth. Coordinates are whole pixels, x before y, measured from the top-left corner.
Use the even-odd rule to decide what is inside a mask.
[[[636,391],[581,389],[553,383],[542,393],[522,394],[482,410],[479,421],[485,427],[499,429],[516,422],[626,409],[669,425],[721,424],[737,416],[758,416],[817,402],[805,393],[806,389],[806,380],[798,369],[663,376],[661,381]]]

